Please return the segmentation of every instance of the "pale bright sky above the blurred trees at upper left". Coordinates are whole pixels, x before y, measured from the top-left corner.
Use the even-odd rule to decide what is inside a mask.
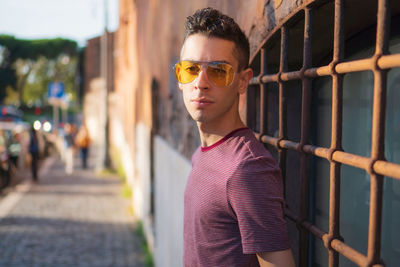
[[[104,31],[118,28],[118,0],[0,0],[0,34],[23,39],[63,37],[84,46]]]

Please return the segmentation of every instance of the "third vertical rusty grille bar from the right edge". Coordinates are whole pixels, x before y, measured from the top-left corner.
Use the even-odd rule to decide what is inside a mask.
[[[304,22],[304,50],[303,50],[303,68],[302,73],[311,67],[311,10],[305,8]],[[309,210],[309,164],[308,154],[302,147],[307,143],[310,132],[310,108],[311,108],[311,80],[302,75],[302,110],[301,110],[301,139],[300,139],[300,179],[301,179],[301,220],[308,219]],[[309,254],[309,233],[305,229],[300,230],[300,266],[308,266]]]

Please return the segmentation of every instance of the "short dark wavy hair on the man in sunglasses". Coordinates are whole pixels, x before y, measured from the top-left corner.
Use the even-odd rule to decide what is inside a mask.
[[[239,62],[239,70],[249,65],[249,40],[239,25],[229,16],[211,7],[197,10],[186,18],[184,41],[193,34],[199,33],[207,37],[217,37],[235,43],[235,56]]]

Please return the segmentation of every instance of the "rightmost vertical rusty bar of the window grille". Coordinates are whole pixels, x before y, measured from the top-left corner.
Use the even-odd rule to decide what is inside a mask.
[[[376,62],[380,56],[388,53],[389,0],[378,1],[378,21],[376,32]],[[384,159],[385,152],[385,118],[386,118],[387,70],[381,70],[378,64],[374,69],[374,103],[372,115],[372,143],[371,143],[371,192],[368,231],[368,262],[369,265],[381,263],[381,229],[382,229],[382,201],[383,176],[373,171],[376,160]]]

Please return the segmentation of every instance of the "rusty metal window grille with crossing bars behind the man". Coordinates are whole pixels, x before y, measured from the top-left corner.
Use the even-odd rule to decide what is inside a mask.
[[[375,53],[370,58],[344,61],[344,0],[334,1],[334,43],[333,56],[330,64],[313,68],[311,66],[311,35],[313,27],[313,7],[316,2],[305,1],[292,15],[267,36],[260,45],[260,59],[256,62],[260,74],[251,81],[252,86],[260,87],[259,103],[259,132],[256,132],[259,140],[265,144],[274,146],[278,151],[278,161],[283,174],[286,170],[286,152],[293,150],[300,153],[300,214],[295,214],[287,209],[286,216],[293,220],[299,228],[299,264],[308,266],[308,233],[318,237],[329,252],[329,266],[339,265],[339,253],[359,266],[383,266],[381,260],[381,227],[382,227],[382,201],[384,179],[400,179],[400,165],[388,162],[384,157],[385,146],[385,116],[387,73],[391,68],[400,67],[400,54],[389,54],[389,25],[390,7],[389,0],[378,0],[377,3],[377,31]],[[288,21],[299,12],[304,12],[304,43],[303,64],[297,71],[288,71]],[[273,35],[280,35],[280,63],[279,71],[274,74],[266,74],[268,56],[266,47]],[[259,64],[259,65],[258,65]],[[343,76],[350,72],[372,71],[374,77],[373,93],[373,117],[371,156],[364,157],[343,151],[342,148],[342,124],[343,124]],[[311,127],[311,94],[312,79],[321,76],[332,78],[332,125],[331,145],[327,147],[313,146],[307,143]],[[291,80],[300,80],[302,83],[301,100],[301,138],[299,142],[289,140],[287,137],[287,101],[285,96],[285,84]],[[266,93],[268,83],[277,83],[279,86],[279,135],[273,137],[267,135],[265,114]],[[251,90],[251,89],[250,89]],[[251,100],[248,100],[251,101]],[[254,106],[247,105],[247,116],[254,114]],[[250,114],[250,115],[249,115]],[[251,122],[248,122],[251,124]],[[251,128],[252,125],[249,125]],[[309,166],[307,157],[314,155],[326,159],[330,164],[330,195],[329,195],[329,232],[319,229],[308,219],[308,194],[309,194]],[[365,170],[370,175],[370,211],[368,231],[367,255],[350,247],[342,241],[339,229],[340,212],[340,179],[341,165],[349,165]],[[384,178],[386,176],[386,178]]]

